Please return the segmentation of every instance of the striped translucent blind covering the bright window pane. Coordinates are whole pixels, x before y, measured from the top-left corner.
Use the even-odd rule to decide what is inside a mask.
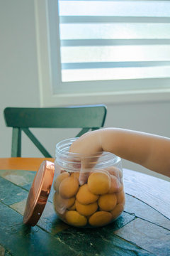
[[[59,1],[62,81],[170,76],[170,1]]]

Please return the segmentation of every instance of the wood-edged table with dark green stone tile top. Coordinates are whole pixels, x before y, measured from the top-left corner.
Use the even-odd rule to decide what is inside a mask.
[[[125,211],[115,223],[66,225],[50,196],[38,225],[24,225],[26,198],[42,160],[0,159],[0,255],[170,255],[170,183],[128,169]]]

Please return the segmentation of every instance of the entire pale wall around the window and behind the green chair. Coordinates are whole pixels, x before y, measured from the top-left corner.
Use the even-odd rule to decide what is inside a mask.
[[[39,106],[34,1],[0,0],[0,157],[11,155],[11,128],[5,126],[4,108]],[[170,102],[108,105],[105,127],[136,129],[170,137],[169,110]],[[34,129],[34,132],[54,156],[55,144],[74,137],[77,130],[59,129],[56,132],[52,129],[49,133],[47,129]],[[41,156],[25,136],[23,156]],[[123,167],[159,176],[128,161],[123,161]]]

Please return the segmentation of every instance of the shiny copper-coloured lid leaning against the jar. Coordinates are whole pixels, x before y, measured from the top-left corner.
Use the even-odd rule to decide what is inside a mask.
[[[31,226],[38,223],[50,194],[54,174],[55,164],[42,161],[28,194],[23,223]]]

